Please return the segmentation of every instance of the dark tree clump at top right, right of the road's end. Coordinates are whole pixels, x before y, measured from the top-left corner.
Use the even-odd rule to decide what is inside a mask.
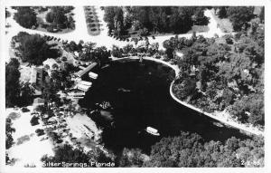
[[[229,18],[230,22],[233,25],[235,31],[246,30],[249,26],[249,22],[256,15],[254,12],[253,6],[220,6],[219,16],[220,18]],[[264,11],[260,14],[260,18],[264,17]]]

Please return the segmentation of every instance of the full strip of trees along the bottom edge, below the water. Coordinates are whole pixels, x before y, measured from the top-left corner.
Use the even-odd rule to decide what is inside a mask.
[[[109,161],[116,167],[264,167],[264,140],[240,140],[234,137],[225,142],[204,141],[196,133],[181,132],[177,137],[163,138],[152,146],[150,156],[141,149],[123,149],[120,155],[105,154],[94,148],[88,153],[63,145],[54,157],[44,156],[42,161],[90,163]],[[50,166],[49,166],[50,167]],[[60,165],[61,167],[61,165]],[[74,167],[79,167],[75,165]]]

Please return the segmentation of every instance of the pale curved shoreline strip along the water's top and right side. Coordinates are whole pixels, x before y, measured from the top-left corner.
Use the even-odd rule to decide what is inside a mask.
[[[132,60],[138,60],[139,58],[137,56],[131,56],[131,57],[124,57],[124,58],[112,58],[112,61],[117,61],[117,60],[125,60],[125,59],[132,59]],[[153,57],[143,57],[143,59],[145,60],[150,60],[150,61],[154,61],[154,62],[161,62],[163,63],[164,65],[167,65],[169,67],[171,67],[173,69],[173,71],[175,72],[175,76],[178,75],[178,73],[180,72],[180,69],[178,68],[177,65],[173,65],[169,62],[164,62],[163,60],[160,60],[160,59],[155,59]],[[239,124],[238,122],[236,121],[232,121],[232,120],[228,120],[228,118],[224,118],[224,117],[221,117],[219,116],[219,114],[223,114],[225,113],[224,111],[220,111],[220,112],[214,112],[214,113],[209,113],[209,112],[206,112],[206,111],[201,111],[201,109],[199,108],[196,108],[195,106],[185,102],[185,101],[181,101],[179,100],[173,93],[173,83],[175,82],[175,80],[173,80],[173,82],[171,82],[171,85],[170,85],[170,94],[173,98],[174,101],[177,101],[179,102],[180,104],[182,104],[183,106],[186,106],[190,109],[192,109],[193,111],[198,111],[208,117],[210,117],[211,119],[214,119],[214,120],[218,120],[220,121],[220,123],[223,123],[227,126],[230,126],[232,128],[235,128],[235,129],[238,129],[240,131],[244,131],[248,134],[253,134],[253,135],[262,135],[264,136],[265,132],[262,131],[262,130],[253,130],[251,128],[247,128],[245,125],[243,124]]]

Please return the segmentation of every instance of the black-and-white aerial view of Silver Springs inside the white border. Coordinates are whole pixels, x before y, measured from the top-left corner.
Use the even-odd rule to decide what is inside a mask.
[[[4,8],[6,168],[265,167],[265,6]]]

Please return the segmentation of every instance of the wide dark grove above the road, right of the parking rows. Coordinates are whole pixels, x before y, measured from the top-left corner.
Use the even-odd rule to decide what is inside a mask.
[[[140,36],[159,33],[181,34],[193,24],[205,25],[204,7],[196,6],[107,6],[104,20],[109,32],[115,35],[133,31]]]

